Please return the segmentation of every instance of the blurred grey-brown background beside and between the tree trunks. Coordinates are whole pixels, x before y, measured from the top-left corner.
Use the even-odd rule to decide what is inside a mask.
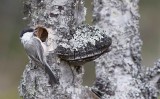
[[[85,1],[85,0],[84,0]],[[92,0],[86,0],[87,23],[91,24]],[[153,66],[160,58],[160,0],[140,0],[140,33],[143,65]],[[20,44],[19,32],[27,25],[23,0],[0,0],[0,99],[17,99],[17,87],[28,58]],[[93,83],[94,63],[85,66],[84,85]]]

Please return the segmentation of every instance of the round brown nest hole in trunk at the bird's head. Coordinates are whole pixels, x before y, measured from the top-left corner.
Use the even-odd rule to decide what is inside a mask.
[[[36,36],[42,41],[45,42],[48,38],[48,31],[46,28],[38,26],[36,28]]]

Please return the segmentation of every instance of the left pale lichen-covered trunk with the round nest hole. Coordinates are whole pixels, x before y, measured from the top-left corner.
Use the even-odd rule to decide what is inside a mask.
[[[25,1],[24,13],[27,16],[24,19],[30,20],[29,26],[43,26],[49,32],[47,60],[60,84],[49,85],[44,69],[30,62],[19,85],[20,96],[24,99],[93,99],[90,91],[81,85],[83,67],[77,72],[74,67],[60,61],[54,53],[60,42],[67,43],[70,31],[85,21],[85,10],[82,0]]]

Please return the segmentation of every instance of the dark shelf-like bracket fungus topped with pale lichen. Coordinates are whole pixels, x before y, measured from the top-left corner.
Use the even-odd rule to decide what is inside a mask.
[[[90,25],[80,25],[68,43],[61,42],[56,54],[69,64],[79,66],[110,51],[112,40],[105,31]]]

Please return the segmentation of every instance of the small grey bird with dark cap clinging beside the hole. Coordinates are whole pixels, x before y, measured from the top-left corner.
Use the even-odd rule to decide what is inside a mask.
[[[29,56],[29,59],[34,61],[36,64],[45,67],[45,71],[49,75],[49,83],[51,85],[52,82],[58,84],[58,80],[46,61],[46,46],[43,44],[44,41],[38,37],[37,30],[32,28],[24,29],[20,33],[20,40],[27,55]]]

